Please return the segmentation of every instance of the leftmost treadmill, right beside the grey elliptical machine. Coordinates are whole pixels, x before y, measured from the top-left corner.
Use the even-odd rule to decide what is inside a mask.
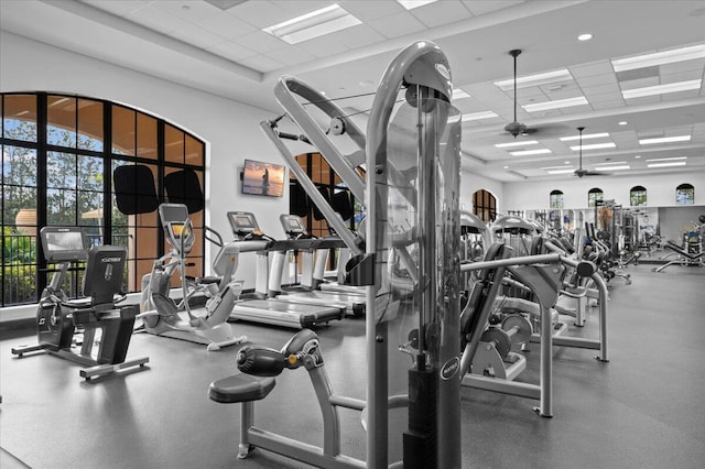
[[[235,244],[241,244],[240,252],[256,252],[257,281],[253,295],[247,295],[237,302],[230,313],[230,320],[247,320],[273,326],[291,327],[295,329],[311,328],[328,324],[334,319],[345,317],[341,305],[312,305],[270,298],[267,294],[267,272],[269,271],[268,253],[279,252],[282,247],[270,237],[262,233],[254,218],[249,211],[228,211],[228,221],[236,239]],[[252,298],[253,297],[253,298]]]

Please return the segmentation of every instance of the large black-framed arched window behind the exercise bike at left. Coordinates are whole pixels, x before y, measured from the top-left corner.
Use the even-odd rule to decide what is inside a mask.
[[[0,306],[34,303],[47,284],[51,273],[36,246],[36,234],[45,226],[77,226],[91,244],[124,246],[122,287],[139,291],[142,275],[167,248],[155,211],[123,215],[117,209],[112,173],[118,166],[141,164],[162,182],[170,174],[193,170],[203,187],[205,143],[163,119],[101,99],[8,92],[0,94],[0,243],[6,247],[0,259]],[[162,186],[158,185],[158,195],[164,200]],[[134,190],[139,196],[141,188],[135,185]],[[194,264],[188,275],[198,276],[203,210],[191,218],[197,242],[188,258]],[[79,280],[73,277],[73,285],[80,285]]]

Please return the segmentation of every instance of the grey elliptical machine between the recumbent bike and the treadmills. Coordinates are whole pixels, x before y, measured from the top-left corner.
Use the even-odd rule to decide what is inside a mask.
[[[210,239],[220,246],[213,265],[219,276],[191,280],[186,277],[186,255],[194,246],[195,234],[187,207],[184,204],[161,204],[159,217],[172,249],[154,261],[152,272],[142,277],[142,313],[139,317],[142,318],[144,330],[158,336],[204,343],[208,346],[208,351],[247,341],[246,336],[236,337],[227,324],[242,290],[242,285],[232,280],[239,248],[235,243]],[[183,295],[180,302],[174,302],[169,296],[175,271],[178,271],[182,284]],[[206,314],[203,316],[193,314],[188,304],[198,293],[208,297]],[[180,312],[185,312],[188,320],[182,319]]]

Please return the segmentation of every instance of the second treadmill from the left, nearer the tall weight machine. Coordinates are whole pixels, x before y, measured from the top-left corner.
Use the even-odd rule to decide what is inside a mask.
[[[269,280],[269,294],[279,299],[292,303],[335,305],[345,308],[351,316],[365,314],[367,295],[359,287],[351,292],[322,291],[317,286],[323,285],[323,273],[328,259],[328,252],[333,249],[344,249],[346,244],[337,237],[315,238],[306,232],[303,220],[296,215],[283,214],[279,217],[282,228],[288,236],[285,241],[275,241],[278,255],[273,262],[273,269]],[[299,251],[302,255],[302,276],[295,290],[282,287],[282,271],[286,265],[288,252]],[[315,260],[314,260],[315,258]],[[279,265],[279,260],[283,265]]]

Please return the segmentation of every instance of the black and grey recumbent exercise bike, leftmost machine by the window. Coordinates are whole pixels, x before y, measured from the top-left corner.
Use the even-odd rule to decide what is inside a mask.
[[[79,374],[86,380],[130,367],[143,368],[149,358],[126,361],[137,305],[116,306],[124,272],[127,251],[117,246],[94,246],[86,252],[80,228],[45,227],[40,231],[44,257],[57,263],[50,285],[42,292],[36,310],[39,343],[12,349],[25,353],[46,351],[87,368]],[[74,262],[87,261],[83,291],[87,296],[68,299],[62,291],[66,272]],[[100,332],[99,336],[96,332]],[[83,341],[78,339],[83,334]],[[94,346],[98,345],[94,353]],[[80,346],[80,351],[75,350]]]

